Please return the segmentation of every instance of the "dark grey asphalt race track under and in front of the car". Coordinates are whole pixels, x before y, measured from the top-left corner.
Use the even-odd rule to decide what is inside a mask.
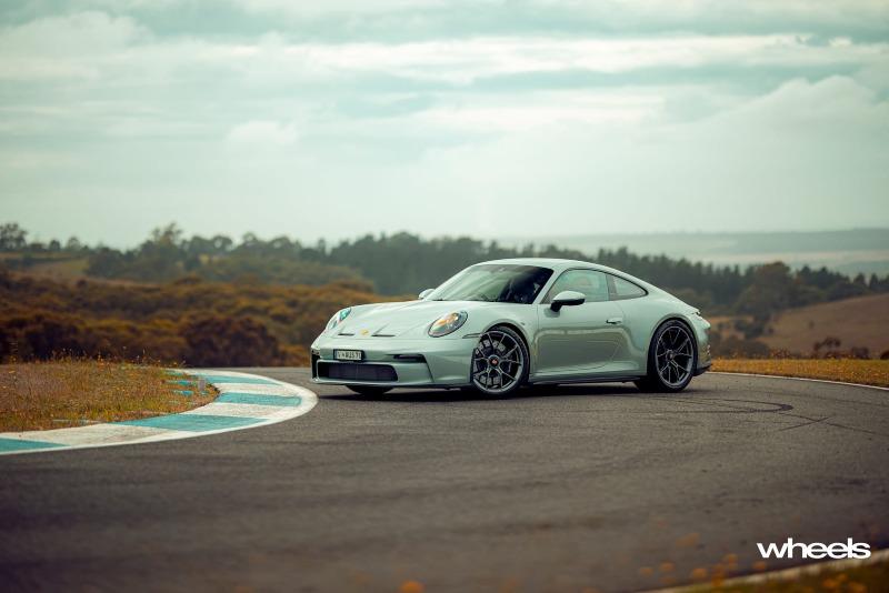
[[[708,374],[678,395],[367,400],[244,370],[320,401],[254,430],[0,458],[0,590],[623,591],[726,554],[749,571],[756,542],[889,542],[887,391]]]

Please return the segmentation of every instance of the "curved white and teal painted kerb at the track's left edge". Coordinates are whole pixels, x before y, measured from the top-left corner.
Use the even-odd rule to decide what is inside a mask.
[[[182,420],[186,424],[188,424],[189,416],[203,416],[202,420],[209,422],[210,425],[212,425],[212,423],[216,422],[212,419],[219,419],[220,421],[223,421],[223,419],[228,419],[230,421],[229,423],[232,424],[220,429],[209,429],[209,430],[203,430],[203,429],[198,430],[194,429],[193,426],[190,428],[189,430],[180,430],[181,426],[176,426],[176,422],[173,422],[172,426],[174,428],[161,428],[161,426],[126,424],[126,423],[102,423],[102,424],[91,424],[89,426],[74,426],[69,429],[53,429],[46,431],[6,432],[6,433],[0,433],[0,439],[7,441],[10,440],[21,441],[22,445],[27,445],[28,442],[37,441],[40,443],[47,443],[48,445],[54,444],[60,446],[51,446],[48,449],[23,449],[23,450],[12,450],[12,451],[0,451],[0,455],[42,453],[48,451],[68,451],[71,449],[92,449],[99,446],[114,446],[121,444],[169,441],[174,439],[191,439],[194,436],[203,436],[207,434],[218,434],[220,432],[253,429],[257,426],[276,424],[284,420],[290,420],[300,416],[309,412],[318,403],[318,395],[316,395],[313,391],[299,385],[293,385],[291,383],[284,383],[282,381],[269,379],[266,376],[240,373],[236,371],[189,370],[182,372],[186,374],[194,374],[194,375],[197,375],[198,373],[202,373],[214,376],[228,376],[228,378],[242,376],[244,379],[254,379],[254,380],[261,379],[264,381],[273,381],[273,384],[244,382],[244,383],[220,383],[214,386],[219,390],[220,395],[223,395],[226,393],[241,393],[241,394],[247,394],[248,396],[262,395],[263,398],[269,398],[269,396],[281,398],[282,405],[273,405],[273,404],[259,405],[254,403],[236,403],[236,402],[210,402],[207,405],[202,405],[201,408],[196,408],[194,410],[189,410],[188,412],[182,412],[180,414],[153,416],[151,419],[137,421],[137,422],[157,421],[159,424],[162,424],[166,421],[170,420],[172,421]],[[296,403],[296,405],[293,405],[293,399],[296,398],[299,398],[299,401]],[[246,419],[253,420],[256,422],[243,424]],[[192,423],[197,421],[198,419],[194,419]],[[222,423],[224,423],[224,421]]]

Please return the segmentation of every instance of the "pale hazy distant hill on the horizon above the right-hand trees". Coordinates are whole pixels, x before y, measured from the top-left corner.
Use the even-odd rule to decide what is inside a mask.
[[[791,268],[827,267],[845,274],[889,272],[889,229],[848,231],[655,233],[508,237],[506,245],[555,244],[595,253],[626,247],[638,254],[665,254],[719,265],[782,261]]]

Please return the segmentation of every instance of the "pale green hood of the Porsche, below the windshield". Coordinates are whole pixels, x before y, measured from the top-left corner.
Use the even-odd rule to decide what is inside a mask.
[[[394,338],[426,328],[434,320],[455,311],[471,311],[481,303],[475,301],[407,301],[352,309],[352,313],[331,333],[354,338]]]

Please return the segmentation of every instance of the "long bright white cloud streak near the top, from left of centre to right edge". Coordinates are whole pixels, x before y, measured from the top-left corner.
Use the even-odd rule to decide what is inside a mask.
[[[270,39],[229,53],[233,60],[273,63],[290,72],[376,72],[418,80],[468,83],[527,72],[626,72],[706,66],[837,66],[885,60],[889,43],[806,43],[805,36],[658,37],[652,39],[472,38],[409,43],[291,43]]]

